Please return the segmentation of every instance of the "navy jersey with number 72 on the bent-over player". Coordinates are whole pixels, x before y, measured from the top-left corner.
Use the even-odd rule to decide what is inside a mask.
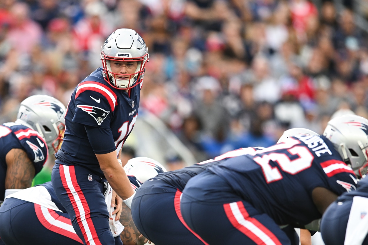
[[[221,177],[238,196],[279,225],[307,224],[321,218],[311,198],[314,188],[341,195],[357,185],[353,170],[332,143],[316,135],[291,137],[254,156],[234,157],[207,171]]]

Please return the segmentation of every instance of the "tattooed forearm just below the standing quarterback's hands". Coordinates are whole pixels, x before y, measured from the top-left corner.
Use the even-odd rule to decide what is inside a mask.
[[[139,245],[144,244],[145,237],[138,239],[141,232],[138,231],[137,227],[132,219],[132,213],[130,208],[123,203],[123,210],[120,214],[120,223],[124,226],[123,232],[120,234],[121,241],[124,245]]]

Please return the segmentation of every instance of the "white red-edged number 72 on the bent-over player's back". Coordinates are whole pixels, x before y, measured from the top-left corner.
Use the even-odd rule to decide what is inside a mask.
[[[277,145],[281,146],[282,143]],[[282,179],[279,169],[277,167],[271,167],[269,164],[270,161],[277,162],[284,172],[293,175],[312,166],[314,156],[305,146],[293,146],[287,151],[293,156],[297,155],[298,158],[291,160],[285,153],[272,152],[262,157],[257,156],[253,159],[262,167],[267,183]]]

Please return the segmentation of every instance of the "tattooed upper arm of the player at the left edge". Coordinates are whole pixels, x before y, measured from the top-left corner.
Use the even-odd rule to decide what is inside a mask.
[[[6,164],[5,189],[31,187],[36,170],[24,150],[11,149],[6,155]]]

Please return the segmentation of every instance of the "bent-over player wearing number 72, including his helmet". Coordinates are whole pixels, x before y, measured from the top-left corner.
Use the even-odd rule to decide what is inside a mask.
[[[210,245],[291,244],[280,226],[304,228],[356,189],[355,174],[367,171],[367,127],[362,117],[331,120],[323,136],[295,135],[208,168],[185,185],[184,221]]]

